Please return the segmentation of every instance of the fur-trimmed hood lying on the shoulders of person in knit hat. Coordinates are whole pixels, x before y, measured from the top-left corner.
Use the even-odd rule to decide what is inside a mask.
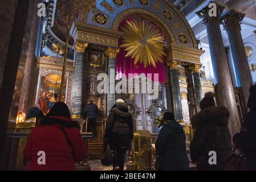
[[[191,124],[196,127],[207,122],[214,122],[218,126],[227,126],[229,123],[229,110],[225,106],[213,106],[194,115]]]

